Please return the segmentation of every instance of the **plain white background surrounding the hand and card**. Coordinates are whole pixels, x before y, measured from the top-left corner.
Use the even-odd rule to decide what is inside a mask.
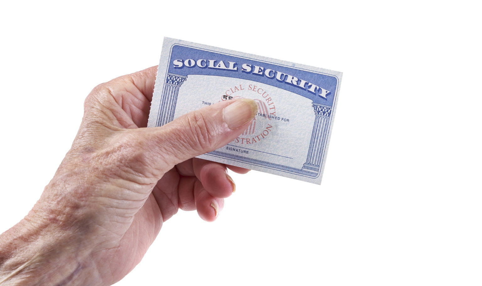
[[[335,3],[336,2],[336,3]],[[97,84],[168,36],[343,72],[321,186],[252,171],[214,223],[181,211],[127,285],[481,285],[475,1],[8,1],[0,231],[69,149]]]

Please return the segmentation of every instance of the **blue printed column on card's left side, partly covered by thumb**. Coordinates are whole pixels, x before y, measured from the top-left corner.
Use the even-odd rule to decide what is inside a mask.
[[[187,77],[185,76],[167,74],[166,83],[164,84],[162,91],[161,108],[159,109],[156,126],[162,126],[173,121],[179,87],[186,79]]]

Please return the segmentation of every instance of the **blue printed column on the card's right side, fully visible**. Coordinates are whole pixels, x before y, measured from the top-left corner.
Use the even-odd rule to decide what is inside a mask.
[[[315,123],[313,124],[308,156],[306,163],[303,164],[303,170],[318,174],[328,138],[328,130],[330,130],[332,107],[322,104],[312,104],[315,111]]]

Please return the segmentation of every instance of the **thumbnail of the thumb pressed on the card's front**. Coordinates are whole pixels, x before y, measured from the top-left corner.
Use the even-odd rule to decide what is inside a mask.
[[[248,98],[239,99],[223,109],[224,121],[230,129],[238,129],[251,121],[258,112],[258,104]]]

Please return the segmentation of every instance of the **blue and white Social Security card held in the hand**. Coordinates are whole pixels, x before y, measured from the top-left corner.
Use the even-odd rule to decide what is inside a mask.
[[[258,114],[202,159],[321,183],[342,73],[164,38],[148,127],[220,101],[251,98]]]

